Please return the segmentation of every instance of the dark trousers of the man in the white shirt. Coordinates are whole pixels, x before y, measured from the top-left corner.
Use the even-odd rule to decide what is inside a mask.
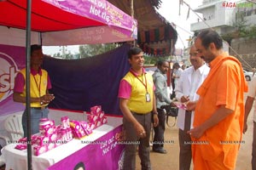
[[[178,140],[179,140],[179,170],[189,170],[192,151],[191,151],[191,141],[190,135],[187,133],[190,129],[191,122],[191,111],[186,111],[185,116],[185,126],[184,130],[179,129]]]

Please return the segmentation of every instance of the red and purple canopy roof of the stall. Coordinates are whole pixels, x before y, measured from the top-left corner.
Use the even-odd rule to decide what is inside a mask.
[[[1,31],[2,26],[10,32],[26,30],[26,0],[1,2],[0,16]],[[39,38],[32,33],[32,39],[44,46],[126,42],[137,37],[137,20],[106,0],[33,0],[31,26],[40,32]]]

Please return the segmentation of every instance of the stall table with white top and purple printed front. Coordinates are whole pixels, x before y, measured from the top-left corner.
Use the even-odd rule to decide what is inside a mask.
[[[84,139],[73,139],[40,156],[32,156],[32,169],[73,170],[79,162],[86,169],[120,169],[124,145],[118,144],[115,137],[122,131],[121,120],[108,116],[107,124]],[[2,150],[6,169],[27,169],[26,150],[15,150],[15,145],[8,144]]]

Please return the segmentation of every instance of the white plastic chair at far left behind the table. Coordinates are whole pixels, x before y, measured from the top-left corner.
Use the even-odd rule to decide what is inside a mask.
[[[11,141],[17,141],[23,138],[22,115],[8,116],[4,121],[4,128],[9,133]]]

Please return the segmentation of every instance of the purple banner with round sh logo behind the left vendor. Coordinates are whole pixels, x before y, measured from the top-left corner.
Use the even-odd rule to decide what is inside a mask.
[[[17,72],[26,66],[26,48],[0,44],[0,116],[22,111],[24,105],[13,101]]]

